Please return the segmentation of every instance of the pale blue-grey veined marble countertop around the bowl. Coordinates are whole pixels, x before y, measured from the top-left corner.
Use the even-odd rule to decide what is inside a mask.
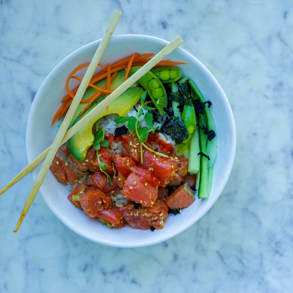
[[[27,165],[26,121],[42,81],[102,38],[114,9],[123,13],[116,35],[180,35],[219,81],[237,130],[229,181],[178,236],[115,248],[72,232],[40,195],[14,233],[28,175],[0,197],[0,291],[292,292],[292,1],[1,1],[0,187]]]

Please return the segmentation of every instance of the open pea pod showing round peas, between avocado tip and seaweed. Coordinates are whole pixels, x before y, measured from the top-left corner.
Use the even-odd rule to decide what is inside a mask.
[[[129,76],[133,75],[141,66],[134,66],[129,71]],[[160,79],[151,71],[148,71],[137,81],[144,90],[147,91],[151,100],[161,115],[165,114],[163,108],[167,107],[167,93]]]

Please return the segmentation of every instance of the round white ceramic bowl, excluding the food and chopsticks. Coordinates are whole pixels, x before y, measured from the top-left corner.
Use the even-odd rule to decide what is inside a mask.
[[[44,149],[52,144],[58,130],[58,123],[51,126],[52,117],[65,95],[65,82],[70,72],[79,64],[90,62],[100,40],[92,42],[76,50],[60,62],[47,76],[39,88],[30,109],[26,129],[26,151],[28,162],[31,162]],[[137,52],[157,53],[167,41],[146,35],[113,36],[103,54],[100,64],[116,62]],[[182,76],[192,79],[206,100],[212,102],[218,152],[214,162],[212,190],[208,199],[195,200],[182,214],[170,214],[161,230],[132,229],[126,226],[122,229],[109,229],[97,219],[87,217],[83,211],[74,207],[67,199],[69,191],[59,183],[49,171],[40,188],[40,194],[52,212],[71,230],[92,241],[109,246],[139,247],[148,246],[184,231],[197,222],[214,204],[222,193],[229,178],[236,150],[236,130],[233,114],[228,99],[214,76],[190,53],[177,48],[166,59],[188,62],[179,66]],[[40,167],[32,172],[36,179]]]

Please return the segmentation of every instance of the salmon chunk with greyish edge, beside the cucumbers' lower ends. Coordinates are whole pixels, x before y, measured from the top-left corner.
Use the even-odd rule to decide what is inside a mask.
[[[189,207],[194,202],[194,195],[188,183],[176,188],[166,199],[166,204],[170,209],[182,209]]]

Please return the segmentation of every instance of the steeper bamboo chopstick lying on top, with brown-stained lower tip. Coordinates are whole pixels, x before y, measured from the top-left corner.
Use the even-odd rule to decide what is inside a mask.
[[[35,199],[35,197],[40,189],[40,186],[41,186],[41,184],[47,174],[47,171],[49,170],[49,167],[50,167],[52,160],[57,152],[57,149],[64,138],[66,130],[68,129],[69,123],[72,120],[73,115],[74,115],[74,113],[80,103],[80,100],[81,100],[82,96],[84,95],[84,92],[88,86],[88,83],[91,80],[91,77],[93,76],[93,73],[96,70],[98,63],[100,62],[102,54],[105,51],[105,48],[106,48],[114,30],[115,30],[115,28],[117,27],[117,24],[120,20],[121,15],[122,15],[122,12],[115,10],[111,19],[110,19],[110,22],[107,26],[106,32],[100,42],[100,45],[98,46],[98,49],[93,56],[93,59],[92,59],[90,65],[86,71],[86,74],[85,74],[84,78],[82,79],[81,84],[76,92],[76,95],[75,95],[75,97],[69,107],[69,110],[68,110],[68,112],[67,112],[67,114],[61,124],[61,127],[57,133],[57,136],[55,137],[54,142],[53,142],[52,146],[50,147],[50,150],[49,150],[49,152],[46,156],[46,159],[42,165],[42,168],[41,168],[41,170],[35,180],[35,183],[33,184],[33,188],[30,191],[30,194],[29,194],[28,199],[25,203],[25,206],[23,208],[21,216],[16,224],[14,232],[18,231],[21,223],[23,222],[25,215],[27,214],[30,206],[33,203],[33,200]]]

